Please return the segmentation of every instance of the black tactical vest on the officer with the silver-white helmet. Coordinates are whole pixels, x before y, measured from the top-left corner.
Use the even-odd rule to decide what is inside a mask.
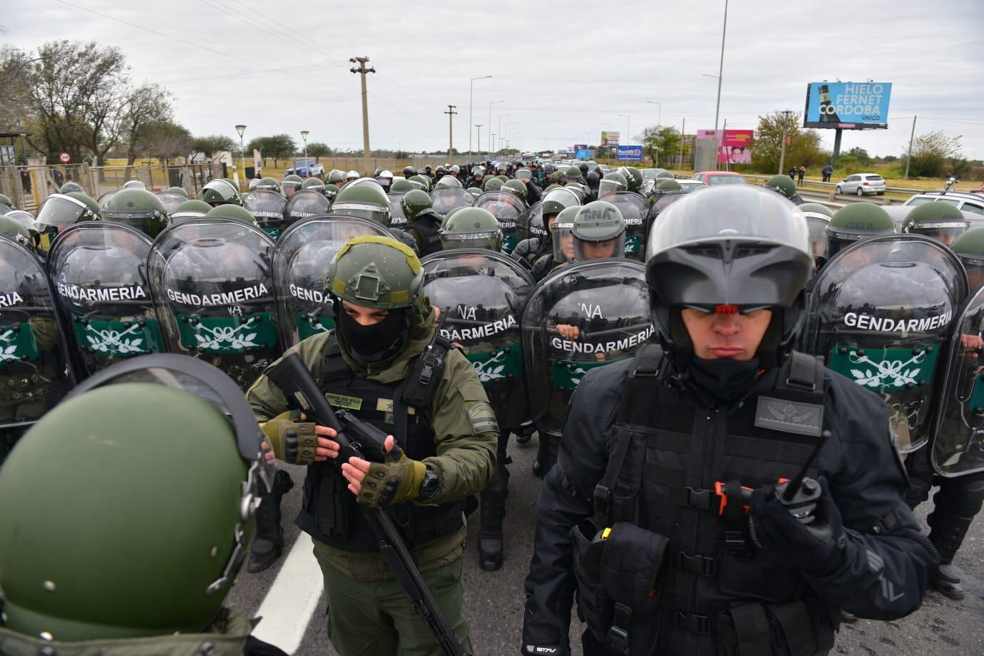
[[[743,486],[774,485],[809,461],[823,421],[822,362],[793,353],[773,388],[730,409],[695,408],[666,369],[658,346],[637,353],[614,415],[608,466],[594,491],[597,527],[614,527],[613,538],[621,530],[623,544],[632,536],[627,525],[645,528],[640,533],[651,541],[645,552],[658,552],[662,562],[649,564],[642,595],[633,589],[638,575],[621,580],[616,572],[602,577],[603,589],[579,590],[594,638],[619,654],[630,653],[630,645],[631,653],[646,653],[638,650],[643,644],[658,645],[659,653],[742,656],[830,649],[832,609],[797,573],[756,560],[741,497]],[[806,426],[798,425],[805,416],[811,417]],[[816,477],[816,469],[808,475]],[[717,494],[717,483],[726,494]],[[584,527],[580,532],[582,541],[591,540]],[[629,551],[643,544],[635,539]]]

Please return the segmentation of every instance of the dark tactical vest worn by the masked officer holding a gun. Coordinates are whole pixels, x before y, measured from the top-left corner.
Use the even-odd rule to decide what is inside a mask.
[[[420,356],[417,356],[419,359]],[[407,371],[416,371],[411,361]],[[436,389],[440,377],[418,381]],[[394,384],[378,383],[358,376],[345,363],[338,340],[331,336],[325,347],[325,372],[319,386],[337,409],[347,409],[382,431],[393,435],[408,458],[422,460],[437,455],[434,429],[430,423],[430,403],[412,407],[405,403],[407,380]],[[431,394],[432,396],[433,394]],[[408,548],[422,545],[459,530],[463,525],[461,503],[435,507],[412,503],[388,507],[387,512],[400,528]],[[329,462],[309,465],[304,479],[304,500],[297,525],[315,539],[336,549],[373,552],[379,549],[348,482]]]

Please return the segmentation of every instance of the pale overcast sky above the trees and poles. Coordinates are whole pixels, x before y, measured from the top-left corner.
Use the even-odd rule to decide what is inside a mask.
[[[372,148],[455,148],[471,125],[507,131],[521,149],[596,144],[601,130],[714,124],[724,0],[620,2],[304,2],[257,0],[0,0],[0,41],[119,46],[137,81],[175,96],[196,135],[246,139],[286,132],[300,144],[362,146],[359,76],[368,56]],[[126,25],[130,24],[130,25]],[[149,30],[153,30],[149,31]],[[157,32],[157,33],[154,33]],[[759,114],[803,111],[808,82],[891,82],[888,130],[845,131],[842,149],[898,154],[916,133],[962,135],[984,158],[982,0],[860,3],[731,0],[720,123],[755,128]],[[660,107],[646,100],[661,103]],[[622,116],[625,115],[625,116]],[[626,118],[628,116],[628,118]],[[511,125],[510,125],[511,124]],[[833,131],[822,131],[832,148]],[[470,130],[472,148],[476,129]],[[633,140],[635,141],[635,140]]]

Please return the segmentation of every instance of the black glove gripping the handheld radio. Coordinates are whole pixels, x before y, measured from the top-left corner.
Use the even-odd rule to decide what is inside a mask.
[[[821,476],[819,485],[821,496],[809,523],[793,516],[771,487],[752,493],[749,532],[771,567],[821,575],[839,565],[845,540],[840,510],[830,497],[827,479]]]

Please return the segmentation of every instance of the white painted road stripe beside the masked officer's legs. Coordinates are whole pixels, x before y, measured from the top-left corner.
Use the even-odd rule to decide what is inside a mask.
[[[313,549],[311,536],[301,533],[257,611],[262,620],[253,635],[288,654],[300,646],[325,587]]]

